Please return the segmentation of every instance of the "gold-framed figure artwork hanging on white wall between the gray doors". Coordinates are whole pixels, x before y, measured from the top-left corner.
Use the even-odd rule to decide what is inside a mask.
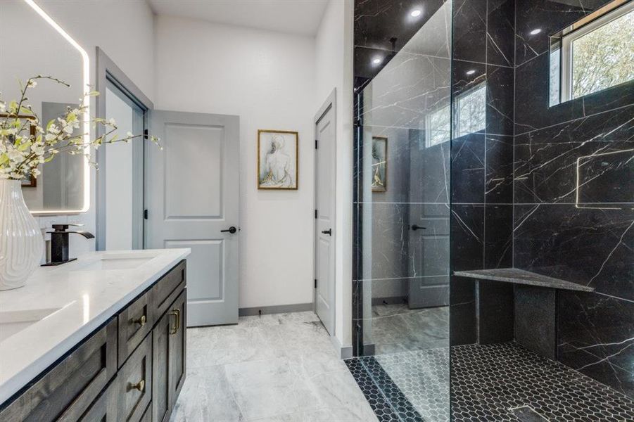
[[[298,148],[298,132],[258,130],[258,189],[297,189]]]

